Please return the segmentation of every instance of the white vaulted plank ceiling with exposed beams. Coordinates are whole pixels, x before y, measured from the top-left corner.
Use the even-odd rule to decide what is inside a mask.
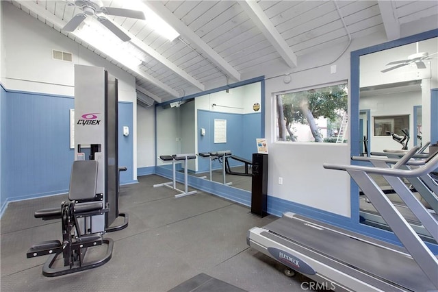
[[[108,8],[130,2],[88,1]],[[83,15],[77,5],[87,1],[10,2],[135,76],[138,90],[158,102],[265,75],[270,66],[290,71],[307,53],[378,31],[394,40],[402,25],[438,19],[438,1],[140,1],[180,35],[170,41],[148,19],[104,14],[110,21],[105,26],[130,38],[123,42],[99,23],[94,37],[81,34],[97,23],[94,16],[83,16],[73,32],[63,29]],[[103,39],[112,39],[111,45]]]

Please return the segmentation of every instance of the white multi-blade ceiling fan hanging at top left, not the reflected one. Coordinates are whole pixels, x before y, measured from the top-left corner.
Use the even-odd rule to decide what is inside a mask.
[[[131,19],[145,19],[144,13],[140,10],[130,10],[123,8],[112,8],[105,7],[101,0],[81,0],[70,2],[67,1],[67,5],[77,6],[83,13],[76,14],[73,16],[73,19],[68,21],[68,23],[62,28],[65,32],[73,32],[79,25],[82,23],[87,16],[96,16],[96,19],[102,23],[107,29],[118,36],[124,42],[130,40],[131,38],[125,34],[120,28],[118,28],[114,23],[105,18],[104,15],[114,15],[114,16],[123,16],[129,17]]]

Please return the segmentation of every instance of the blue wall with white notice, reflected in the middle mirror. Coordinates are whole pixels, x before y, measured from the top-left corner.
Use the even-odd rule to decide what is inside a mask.
[[[214,120],[227,120],[227,143],[214,143]],[[257,151],[255,139],[260,138],[261,114],[232,114],[224,112],[210,112],[198,110],[198,129],[205,129],[205,136],[198,134],[198,152],[212,152],[231,150],[231,153],[248,160],[252,160],[254,151]],[[229,160],[230,166],[242,165],[237,160]],[[213,169],[222,167],[217,160]],[[209,160],[198,160],[198,171],[209,171]]]

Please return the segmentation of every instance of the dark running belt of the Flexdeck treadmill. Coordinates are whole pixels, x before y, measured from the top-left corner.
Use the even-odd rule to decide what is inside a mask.
[[[318,224],[320,228],[314,228]],[[322,227],[322,228],[321,228]],[[415,263],[411,256],[402,254],[404,249],[389,243],[382,243],[397,250],[366,243],[346,234],[339,234],[325,228],[339,229],[324,223],[312,223],[289,217],[282,217],[268,224],[264,228],[279,236],[307,247],[307,249],[333,258],[360,271],[372,274],[376,278],[387,282],[397,283],[412,291],[435,290],[435,287]],[[349,232],[352,233],[352,232]],[[354,234],[359,239],[377,242],[361,234]],[[378,242],[379,244],[381,242]],[[318,271],[317,271],[318,272]],[[438,275],[437,275],[438,276]]]

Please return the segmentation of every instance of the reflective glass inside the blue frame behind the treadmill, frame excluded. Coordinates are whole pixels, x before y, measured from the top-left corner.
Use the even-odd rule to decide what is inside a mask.
[[[403,66],[385,66],[390,58],[405,60],[404,56],[407,53],[411,51],[415,53],[416,50],[434,53],[438,50],[437,38],[411,42],[400,47],[359,56],[359,110],[361,111],[359,129],[362,133],[368,133],[361,135],[364,136],[363,141],[366,141],[366,145],[360,145],[360,149],[366,147],[369,152],[361,156],[369,158],[375,156],[387,160],[398,159],[417,145],[419,148],[415,157],[428,157],[428,146],[430,142],[434,142],[431,141],[433,137],[430,136],[430,127],[437,117],[430,115],[436,114],[435,112],[428,113],[424,110],[430,108],[430,100],[434,98],[430,96],[430,89],[436,82],[434,80],[437,80],[436,71],[431,69],[432,61],[435,59],[433,56],[424,58],[418,63],[420,67],[417,63],[405,64],[407,62],[399,63]],[[413,75],[415,78],[411,77]],[[372,177],[411,223],[412,228],[424,240],[435,242],[430,233],[419,223],[417,217],[406,208],[394,188],[381,175],[372,175]],[[417,198],[422,200],[424,206],[437,217],[436,203],[430,204],[430,201],[426,202],[420,195],[421,192],[430,192],[429,188],[423,187],[424,182],[417,182],[416,186],[410,180],[405,179],[404,182],[415,192]],[[359,194],[361,222],[390,230],[363,191]]]

